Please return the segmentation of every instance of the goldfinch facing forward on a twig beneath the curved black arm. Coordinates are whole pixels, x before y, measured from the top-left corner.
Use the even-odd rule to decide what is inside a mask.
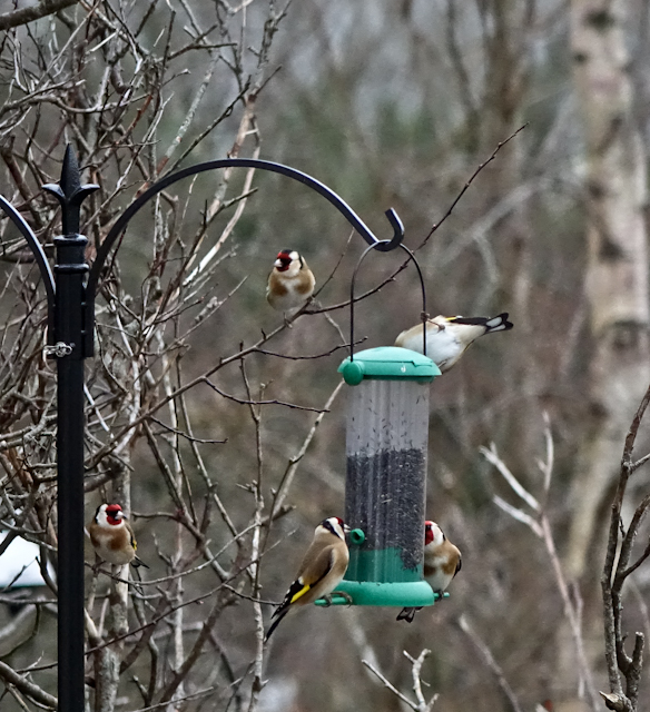
[[[274,309],[290,316],[305,306],[315,285],[314,274],[301,255],[295,249],[283,249],[268,275],[266,299]]]

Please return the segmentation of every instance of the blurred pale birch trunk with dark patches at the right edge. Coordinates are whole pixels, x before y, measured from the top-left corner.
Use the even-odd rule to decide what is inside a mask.
[[[585,205],[593,353],[591,422],[580,444],[568,565],[585,571],[603,497],[650,378],[646,157],[632,119],[621,0],[572,0],[574,82],[585,137]]]

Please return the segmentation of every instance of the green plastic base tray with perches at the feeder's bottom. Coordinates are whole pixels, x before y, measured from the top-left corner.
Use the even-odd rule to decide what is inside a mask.
[[[352,603],[341,593],[346,593]],[[345,581],[338,584],[332,594],[332,603],[325,599],[314,601],[315,605],[394,605],[401,607],[415,607],[433,605],[441,597],[447,599],[449,593],[442,596],[435,593],[426,581],[410,581],[401,583],[381,583],[376,581]]]

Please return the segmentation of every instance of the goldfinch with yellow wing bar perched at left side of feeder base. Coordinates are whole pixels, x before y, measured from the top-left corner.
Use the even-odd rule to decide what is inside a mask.
[[[345,543],[345,532],[348,528],[337,516],[331,516],[318,524],[314,532],[314,540],[298,568],[296,580],[289,586],[283,602],[273,612],[272,619],[275,620],[266,633],[265,641],[270,637],[270,634],[290,610],[314,603],[321,597],[328,599],[341,583],[349,561]]]

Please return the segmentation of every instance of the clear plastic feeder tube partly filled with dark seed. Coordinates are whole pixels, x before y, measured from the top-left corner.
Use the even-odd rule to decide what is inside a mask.
[[[364,379],[348,393],[345,522],[365,542],[348,581],[422,578],[430,384]]]

